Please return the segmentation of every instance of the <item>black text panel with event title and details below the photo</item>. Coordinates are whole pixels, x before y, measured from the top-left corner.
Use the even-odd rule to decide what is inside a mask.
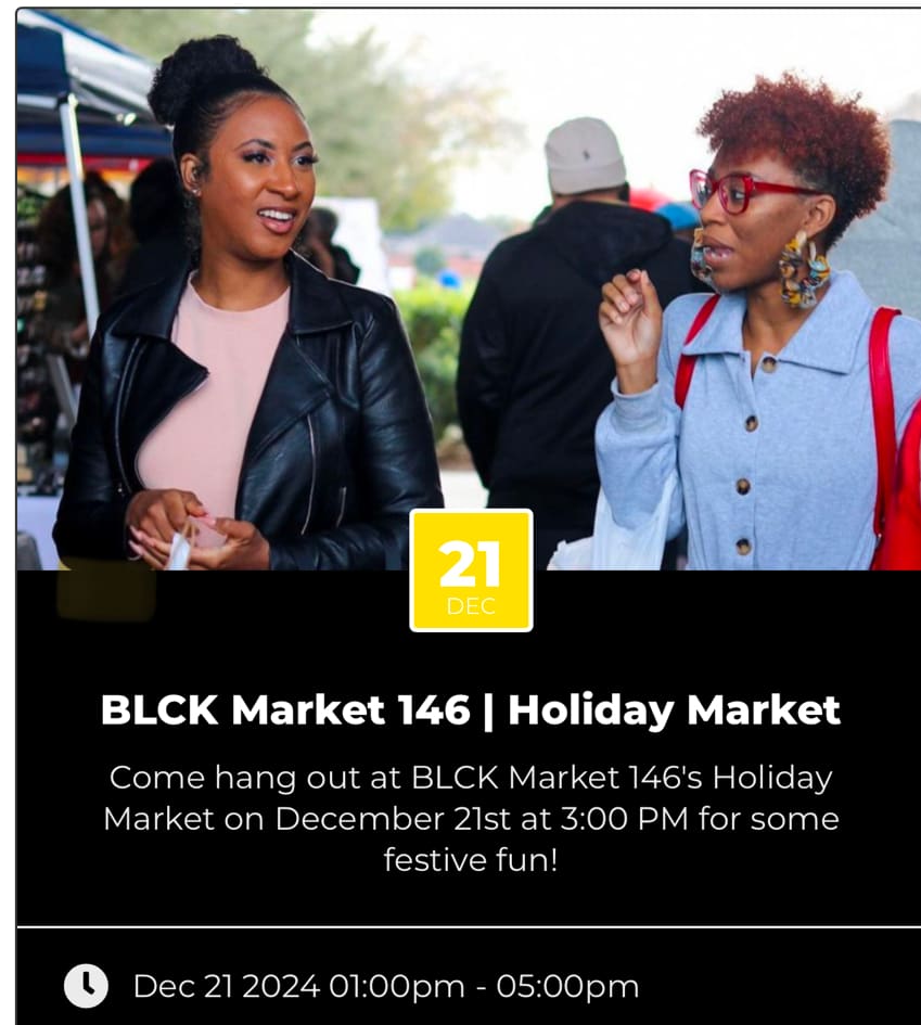
[[[751,585],[546,574],[530,631],[461,635],[404,574],[164,576],[142,623],[54,577],[18,581],[24,1022],[907,992],[919,697],[859,588],[717,628],[682,606]]]

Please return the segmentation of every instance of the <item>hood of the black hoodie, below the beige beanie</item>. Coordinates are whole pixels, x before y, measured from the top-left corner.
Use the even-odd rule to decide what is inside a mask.
[[[673,239],[671,225],[619,203],[577,200],[534,229],[592,287],[642,266]]]

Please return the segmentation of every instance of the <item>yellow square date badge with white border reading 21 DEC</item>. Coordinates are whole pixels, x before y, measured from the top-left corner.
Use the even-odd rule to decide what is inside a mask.
[[[534,626],[529,509],[414,509],[409,627],[524,632]]]

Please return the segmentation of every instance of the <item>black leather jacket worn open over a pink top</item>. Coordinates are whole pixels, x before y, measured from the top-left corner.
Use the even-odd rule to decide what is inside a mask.
[[[405,568],[410,510],[444,501],[402,324],[385,296],[286,259],[289,324],[250,428],[235,517],[269,541],[272,569]],[[188,277],[180,268],[100,319],[54,527],[63,559],[128,556],[141,445],[207,377],[170,341]]]

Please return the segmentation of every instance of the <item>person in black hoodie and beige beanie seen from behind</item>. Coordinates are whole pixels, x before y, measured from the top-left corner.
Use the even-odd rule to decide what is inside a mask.
[[[545,151],[552,213],[486,260],[464,318],[457,381],[488,505],[534,511],[540,569],[559,541],[586,537],[594,523],[594,424],[613,379],[598,290],[638,266],[663,305],[702,289],[690,247],[669,222],[629,206],[624,158],[604,121],[565,121]]]

